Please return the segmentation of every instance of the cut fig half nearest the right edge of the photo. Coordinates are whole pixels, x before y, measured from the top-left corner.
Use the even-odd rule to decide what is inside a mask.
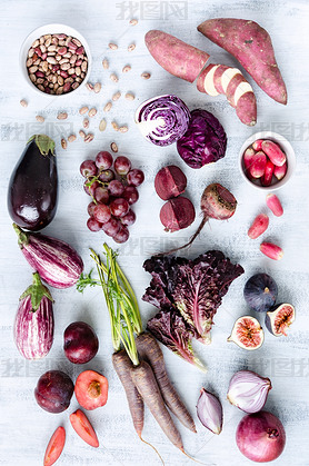
[[[271,308],[265,318],[265,325],[268,330],[280,337],[281,335],[287,336],[287,329],[295,321],[295,308],[288,303],[281,303]]]

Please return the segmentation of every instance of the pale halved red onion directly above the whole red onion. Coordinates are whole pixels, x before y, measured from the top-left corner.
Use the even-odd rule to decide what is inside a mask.
[[[230,379],[228,400],[245,413],[257,413],[266,404],[270,389],[269,378],[251,370],[239,370]]]

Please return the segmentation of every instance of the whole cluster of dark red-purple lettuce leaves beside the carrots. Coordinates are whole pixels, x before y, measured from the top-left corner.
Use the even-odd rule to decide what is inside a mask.
[[[148,321],[149,331],[195,364],[190,340],[209,343],[213,316],[230,284],[243,274],[242,267],[212,250],[195,260],[152,256],[143,268],[152,279],[142,299],[160,309]]]

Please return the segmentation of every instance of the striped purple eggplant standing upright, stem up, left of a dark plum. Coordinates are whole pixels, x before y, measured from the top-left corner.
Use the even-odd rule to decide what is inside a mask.
[[[43,358],[53,340],[52,297],[38,272],[33,284],[19,298],[14,320],[14,341],[26,359]]]

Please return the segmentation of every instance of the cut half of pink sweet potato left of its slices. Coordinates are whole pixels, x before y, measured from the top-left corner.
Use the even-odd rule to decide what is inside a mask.
[[[154,60],[165,70],[189,82],[197,79],[209,59],[209,54],[205,51],[163,31],[148,31],[144,42]]]

